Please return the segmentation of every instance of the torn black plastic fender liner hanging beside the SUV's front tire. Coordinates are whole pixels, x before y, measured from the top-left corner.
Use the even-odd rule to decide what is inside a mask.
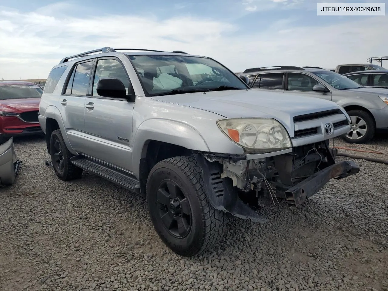
[[[208,161],[198,152],[193,151],[193,155],[201,167],[206,196],[211,206],[242,219],[261,223],[267,222],[266,218],[239,198],[230,178],[221,178],[222,165],[218,162]]]

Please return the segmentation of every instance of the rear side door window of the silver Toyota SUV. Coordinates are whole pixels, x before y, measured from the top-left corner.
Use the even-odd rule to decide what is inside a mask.
[[[66,94],[86,96],[92,64],[93,61],[88,61],[76,65],[66,88]]]

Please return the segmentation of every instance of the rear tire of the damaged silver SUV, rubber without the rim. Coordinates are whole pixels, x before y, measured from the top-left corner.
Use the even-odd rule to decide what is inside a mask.
[[[54,150],[55,150],[54,143],[56,140],[59,142],[59,144],[61,146],[62,154],[63,154],[64,168],[62,171],[60,171],[54,163]],[[63,140],[62,133],[61,133],[60,129],[54,130],[51,133],[51,136],[50,136],[50,155],[51,155],[51,162],[52,162],[55,174],[62,181],[70,181],[70,180],[81,178],[82,169],[78,168],[77,166],[74,166],[71,163],[70,158],[73,155],[71,154],[71,152],[69,152],[68,148],[66,147],[66,144]]]

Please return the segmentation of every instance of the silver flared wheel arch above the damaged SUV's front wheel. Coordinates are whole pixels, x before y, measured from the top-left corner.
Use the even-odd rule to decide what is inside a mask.
[[[133,135],[132,165],[135,177],[139,178],[140,158],[147,140],[157,140],[180,145],[194,151],[208,152],[209,147],[203,137],[190,125],[179,121],[149,119],[140,124]]]

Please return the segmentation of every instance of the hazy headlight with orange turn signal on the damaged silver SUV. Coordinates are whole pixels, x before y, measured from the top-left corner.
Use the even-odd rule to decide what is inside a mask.
[[[272,118],[230,118],[217,121],[227,137],[252,152],[274,152],[290,148],[287,130]]]

